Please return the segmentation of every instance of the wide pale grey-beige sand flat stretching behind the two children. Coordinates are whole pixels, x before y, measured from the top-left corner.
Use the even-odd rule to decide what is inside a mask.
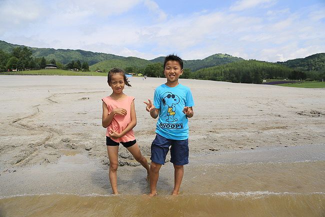
[[[134,131],[146,157],[150,155],[150,144],[155,136],[155,120],[145,111],[143,101],[152,100],[154,88],[164,82],[164,78],[132,77],[132,87],[125,87],[124,91],[135,97],[137,125]],[[208,156],[211,163],[213,157],[229,151],[257,153],[262,148],[285,146],[303,146],[303,150],[308,150],[309,145],[316,145],[323,153],[325,89],[187,79],[180,79],[180,83],[190,87],[195,102],[194,116],[189,119],[189,148],[190,159],[198,162],[198,166],[199,157]],[[0,76],[0,182],[1,177],[2,181],[15,180],[5,185],[10,189],[29,180],[24,184],[33,191],[37,187],[33,186],[32,175],[40,176],[41,173],[37,173],[40,169],[50,174],[53,169],[55,177],[60,176],[60,179],[51,183],[51,191],[71,184],[64,192],[73,192],[73,184],[68,181],[73,175],[71,172],[84,167],[88,172],[97,170],[87,172],[80,183],[88,183],[90,189],[94,187],[91,183],[100,183],[98,192],[109,192],[107,174],[101,174],[108,168],[105,129],[101,126],[101,98],[110,93],[106,77]],[[126,165],[120,171],[134,174],[140,170],[124,148],[121,147],[119,153],[120,165]],[[320,164],[323,160],[323,156],[318,159]],[[83,165],[83,161],[87,164]],[[216,160],[215,164],[218,163]],[[197,169],[197,163],[195,166]],[[59,170],[64,168],[66,173],[62,175]],[[185,175],[186,172],[191,174],[190,170],[190,166],[186,167]],[[74,179],[80,180],[80,177]],[[190,176],[184,177],[183,186],[186,186]],[[127,186],[127,177],[121,178],[121,183]],[[172,180],[172,177],[165,179]],[[161,181],[164,182],[163,177]],[[169,189],[167,185],[165,188]],[[21,189],[25,189],[23,186]],[[140,189],[142,192],[146,187]],[[17,193],[16,190],[5,192],[1,196]]]

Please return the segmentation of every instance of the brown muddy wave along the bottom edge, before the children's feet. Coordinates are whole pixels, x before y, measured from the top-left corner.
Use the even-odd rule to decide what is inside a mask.
[[[1,216],[324,216],[324,193],[212,193],[173,196],[51,194],[0,200]]]

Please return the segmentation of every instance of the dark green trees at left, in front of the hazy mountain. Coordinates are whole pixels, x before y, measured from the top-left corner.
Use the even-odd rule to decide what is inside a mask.
[[[0,50],[1,72],[12,70],[40,70],[44,69],[47,64],[56,65],[57,69],[89,71],[87,62],[81,64],[79,60],[72,60],[64,65],[55,61],[55,59],[46,60],[44,57],[35,58],[32,57],[32,52],[27,47],[16,47],[10,53]]]

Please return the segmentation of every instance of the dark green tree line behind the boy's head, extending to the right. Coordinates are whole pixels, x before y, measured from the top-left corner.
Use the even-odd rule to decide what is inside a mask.
[[[143,68],[126,67],[124,70],[126,73],[141,73],[147,77],[164,77],[161,63],[148,64]],[[190,69],[184,69],[180,78],[261,84],[263,80],[269,79],[321,81],[325,79],[325,74],[321,72],[303,72],[264,61],[243,60],[194,72]]]

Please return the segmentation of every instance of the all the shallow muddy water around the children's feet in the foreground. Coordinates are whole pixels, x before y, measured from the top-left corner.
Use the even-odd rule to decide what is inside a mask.
[[[64,186],[55,188],[55,184],[49,183],[50,178],[45,178],[42,180],[48,183],[39,183],[33,192],[28,191],[28,185],[20,186],[21,189],[17,185],[21,194],[1,196],[0,216],[320,217],[325,214],[323,151],[323,145],[314,145],[191,156],[178,196],[169,195],[173,185],[171,163],[162,166],[158,194],[153,198],[144,195],[148,184],[138,166],[119,168],[117,196],[110,195],[105,169],[91,173],[94,177],[90,185],[71,178]],[[79,169],[95,169],[91,165],[85,163],[84,156],[68,153],[50,171],[53,175],[64,175],[57,171],[67,171],[78,179],[81,174],[87,179],[88,173]],[[45,168],[37,171],[50,176]],[[36,171],[28,172],[39,178]],[[19,176],[15,178],[19,180]]]

